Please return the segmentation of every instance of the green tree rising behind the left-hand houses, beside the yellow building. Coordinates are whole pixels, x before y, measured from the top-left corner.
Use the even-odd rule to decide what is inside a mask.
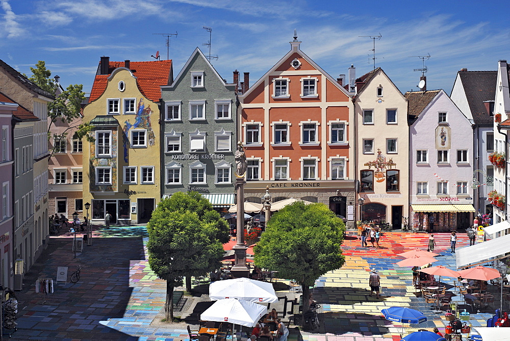
[[[92,126],[88,122],[73,124],[73,121],[81,117],[81,104],[86,100],[85,92],[83,92],[82,84],[70,84],[66,90],[57,94],[57,87],[52,78],[52,71],[46,68],[46,63],[40,60],[36,67],[31,67],[32,77],[29,78],[32,82],[37,84],[41,89],[55,97],[53,102],[48,103],[48,139],[53,138],[55,143],[52,151],[52,156],[56,151],[60,141],[66,139],[69,133],[72,133],[73,139],[86,138],[87,141],[93,142],[94,138],[89,134],[92,131]],[[24,75],[27,77],[26,75]],[[60,134],[52,133],[52,126],[61,120],[66,123],[68,127]]]

